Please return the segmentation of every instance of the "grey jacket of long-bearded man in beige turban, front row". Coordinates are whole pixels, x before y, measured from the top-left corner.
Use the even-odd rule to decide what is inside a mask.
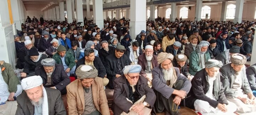
[[[177,75],[177,81],[178,80],[183,80],[184,81],[184,86],[181,88],[182,91],[186,91],[187,93],[190,91],[191,88],[191,82],[190,80],[187,79],[184,75],[181,75],[179,72],[179,69],[174,67],[176,75]],[[152,70],[152,86],[154,90],[160,92],[162,96],[165,98],[169,99],[171,96],[172,92],[175,90],[172,87],[169,87],[166,85],[166,80],[164,79],[164,74],[162,73],[162,68],[160,67],[155,67]]]

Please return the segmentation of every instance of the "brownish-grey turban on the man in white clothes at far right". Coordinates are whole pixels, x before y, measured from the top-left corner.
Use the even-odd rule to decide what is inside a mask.
[[[244,65],[246,63],[246,57],[240,53],[235,53],[230,56],[230,61],[234,65]]]

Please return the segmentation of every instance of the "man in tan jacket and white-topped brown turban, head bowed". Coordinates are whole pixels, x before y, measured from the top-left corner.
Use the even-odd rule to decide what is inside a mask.
[[[80,65],[67,87],[69,115],[110,115],[102,79],[93,65]]]

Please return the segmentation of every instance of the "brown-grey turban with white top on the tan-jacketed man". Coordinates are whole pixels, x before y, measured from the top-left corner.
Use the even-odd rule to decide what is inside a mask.
[[[94,65],[80,65],[76,69],[76,76],[78,79],[95,78],[98,76],[98,70]]]

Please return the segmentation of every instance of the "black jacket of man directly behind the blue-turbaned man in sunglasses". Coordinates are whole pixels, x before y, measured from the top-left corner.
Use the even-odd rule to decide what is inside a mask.
[[[121,63],[122,63],[121,68],[124,68],[126,65],[130,65],[130,63],[128,61],[129,58],[126,55],[123,55],[122,57],[120,57],[120,59],[121,59]],[[117,78],[116,77],[117,58],[116,58],[115,54],[111,54],[106,57],[105,67],[106,67],[106,72],[107,72],[107,78],[109,80],[108,86],[111,89],[113,89],[114,88],[113,82]]]

